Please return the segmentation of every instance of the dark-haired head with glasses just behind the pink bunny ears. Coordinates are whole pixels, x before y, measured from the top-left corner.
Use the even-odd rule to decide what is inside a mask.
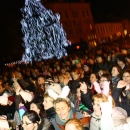
[[[102,76],[100,77],[99,85],[100,85],[101,88],[104,87],[104,82],[105,81],[108,81],[109,84],[111,83],[111,76],[110,76],[110,74],[102,74]]]

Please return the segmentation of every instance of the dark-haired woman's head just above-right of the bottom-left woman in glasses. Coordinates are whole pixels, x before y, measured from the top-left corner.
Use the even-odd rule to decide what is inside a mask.
[[[37,100],[30,105],[30,110],[37,112],[37,114],[41,114],[43,112],[43,97],[38,97]]]

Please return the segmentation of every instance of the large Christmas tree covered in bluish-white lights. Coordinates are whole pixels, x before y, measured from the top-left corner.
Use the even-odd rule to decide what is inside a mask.
[[[67,55],[65,47],[70,42],[60,24],[60,15],[47,10],[40,0],[25,0],[21,9],[23,46],[25,52],[22,60],[27,63]]]

